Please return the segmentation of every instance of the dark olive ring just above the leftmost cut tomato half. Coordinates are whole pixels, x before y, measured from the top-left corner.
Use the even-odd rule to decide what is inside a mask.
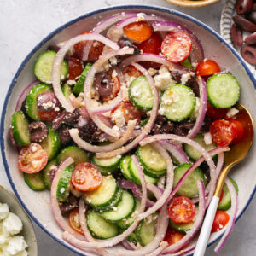
[[[43,122],[32,122],[28,125],[32,143],[41,143],[48,135],[48,128]]]

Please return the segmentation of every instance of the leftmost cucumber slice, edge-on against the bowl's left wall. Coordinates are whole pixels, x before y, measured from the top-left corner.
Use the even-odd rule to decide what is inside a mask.
[[[21,147],[30,144],[30,132],[28,131],[28,120],[22,111],[14,113],[12,118],[12,131],[15,138],[15,142]]]

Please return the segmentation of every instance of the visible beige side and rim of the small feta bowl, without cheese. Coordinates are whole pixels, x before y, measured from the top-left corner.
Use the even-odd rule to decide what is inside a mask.
[[[38,244],[32,221],[21,207],[20,202],[16,199],[15,195],[8,189],[3,188],[3,186],[0,186],[0,203],[7,203],[9,205],[9,212],[13,212],[20,217],[23,224],[23,229],[20,235],[25,237],[28,245],[27,253],[28,255],[37,256]]]

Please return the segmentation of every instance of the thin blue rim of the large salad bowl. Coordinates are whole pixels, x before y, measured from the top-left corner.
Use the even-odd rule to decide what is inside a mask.
[[[195,19],[194,17],[190,16],[190,15],[186,15],[182,12],[179,12],[177,10],[173,10],[173,9],[168,9],[165,7],[160,7],[160,6],[155,6],[155,5],[147,5],[147,4],[120,4],[120,5],[114,5],[111,7],[107,7],[107,8],[102,8],[102,9],[96,9],[96,10],[92,10],[84,15],[79,15],[79,17],[74,18],[73,20],[69,20],[66,23],[64,23],[63,25],[57,27],[54,31],[50,32],[45,38],[43,38],[30,52],[28,55],[26,55],[26,58],[21,62],[20,67],[18,68],[17,72],[15,73],[14,78],[11,81],[11,84],[9,85],[9,89],[7,91],[7,94],[5,96],[4,102],[3,102],[3,110],[2,110],[2,116],[1,116],[1,125],[0,125],[0,141],[1,141],[1,153],[2,153],[2,157],[3,157],[3,165],[5,167],[5,172],[7,174],[7,177],[9,179],[9,183],[12,186],[12,189],[15,192],[15,195],[17,196],[18,200],[20,201],[20,204],[22,205],[22,207],[24,207],[24,209],[26,210],[26,212],[28,213],[28,215],[33,219],[33,221],[38,224],[38,226],[44,230],[44,232],[46,234],[48,234],[51,238],[55,239],[55,241],[58,241],[59,243],[61,243],[62,246],[67,247],[68,249],[70,249],[73,253],[78,253],[79,255],[82,256],[86,256],[87,254],[85,253],[80,253],[76,247],[73,247],[69,244],[67,244],[66,242],[62,241],[61,239],[57,238],[53,233],[51,233],[49,230],[47,230],[43,224],[41,224],[38,219],[33,215],[33,213],[26,207],[26,204],[24,201],[22,201],[16,187],[15,187],[15,183],[12,180],[12,177],[10,175],[9,172],[9,164],[5,155],[5,138],[4,138],[4,120],[5,120],[5,115],[6,115],[6,108],[7,108],[7,104],[9,102],[9,96],[12,93],[12,90],[16,84],[17,78],[19,77],[20,73],[22,72],[23,68],[26,66],[26,62],[29,61],[32,58],[32,55],[35,54],[35,52],[43,45],[45,44],[47,41],[49,41],[50,38],[53,38],[55,36],[55,34],[57,34],[58,32],[61,32],[63,29],[65,29],[67,26],[71,26],[74,23],[76,23],[79,20],[83,20],[84,18],[90,17],[91,15],[97,15],[100,14],[102,12],[107,12],[107,11],[112,11],[112,10],[118,10],[118,9],[145,9],[145,10],[152,10],[152,11],[160,11],[163,13],[168,13],[168,14],[172,14],[172,15],[176,15],[178,17],[181,17],[183,19],[192,21],[193,23],[195,23],[197,26],[201,26],[202,28],[206,29],[207,32],[210,32],[213,36],[215,36],[216,38],[218,38],[219,43],[224,44],[228,49],[230,49],[230,51],[233,53],[233,55],[236,56],[236,59],[238,61],[241,62],[241,66],[244,67],[244,69],[247,72],[248,77],[251,79],[254,88],[256,89],[256,79],[253,77],[253,73],[251,73],[250,69],[247,67],[247,64],[245,63],[245,61],[243,61],[241,59],[241,56],[236,52],[236,49],[234,49],[230,44],[228,44],[224,38],[221,38],[221,36],[218,34],[218,32],[215,32],[210,26],[207,26],[206,24],[204,24],[203,22],[201,22],[200,20]],[[250,204],[250,202],[253,199],[253,195],[256,192],[256,183],[253,189],[253,192],[251,195],[249,195],[249,199],[247,201],[246,206],[241,210],[241,213],[239,214],[239,216],[236,217],[236,221],[241,218],[241,215],[243,214],[243,212],[245,212],[245,210],[247,209],[248,205]],[[224,235],[224,231],[217,237],[215,238],[213,241],[209,242],[207,244],[207,247],[210,247],[214,242],[218,241],[218,239]],[[193,253],[189,253],[188,255],[193,255]]]

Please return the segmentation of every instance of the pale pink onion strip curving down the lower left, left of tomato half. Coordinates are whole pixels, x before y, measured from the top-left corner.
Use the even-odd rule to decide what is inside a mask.
[[[59,180],[61,178],[62,172],[67,168],[67,166],[70,166],[73,164],[73,159],[71,157],[67,157],[65,160],[61,162],[61,165],[58,167],[55,177],[51,183],[51,189],[50,189],[50,205],[52,212],[55,216],[55,220],[57,224],[60,225],[61,230],[68,231],[69,233],[73,234],[76,238],[80,240],[84,240],[84,236],[79,235],[77,232],[75,232],[67,223],[67,221],[63,218],[61,214],[61,210],[59,207],[59,203],[56,198],[56,193],[57,193],[57,186],[59,183]]]

